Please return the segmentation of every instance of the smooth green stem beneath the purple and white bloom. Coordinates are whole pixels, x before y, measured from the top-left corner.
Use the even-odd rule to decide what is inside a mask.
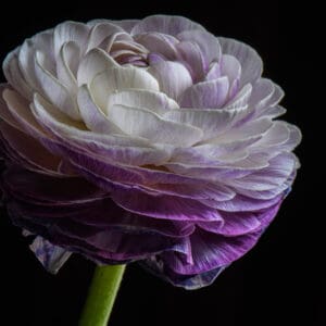
[[[106,326],[126,265],[97,266],[79,326]]]

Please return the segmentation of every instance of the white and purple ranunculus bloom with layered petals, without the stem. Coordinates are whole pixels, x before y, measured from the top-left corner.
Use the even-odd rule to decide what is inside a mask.
[[[3,71],[2,190],[52,271],[78,252],[208,285],[255,244],[299,166],[258,53],[184,17],[65,22]]]

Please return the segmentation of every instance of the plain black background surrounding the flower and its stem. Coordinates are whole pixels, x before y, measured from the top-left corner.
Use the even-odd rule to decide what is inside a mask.
[[[324,89],[321,84],[325,35],[321,11],[312,2],[287,7],[284,2],[45,1],[28,2],[27,9],[9,3],[1,10],[1,61],[24,38],[65,20],[141,18],[154,13],[188,16],[215,35],[253,46],[264,60],[264,76],[286,90],[285,118],[303,131],[297,150],[302,168],[260,243],[211,287],[197,291],[174,288],[137,264],[129,265],[111,325],[326,325],[325,82]],[[77,325],[93,264],[75,255],[57,276],[49,275],[3,210],[0,224],[0,325]]]

